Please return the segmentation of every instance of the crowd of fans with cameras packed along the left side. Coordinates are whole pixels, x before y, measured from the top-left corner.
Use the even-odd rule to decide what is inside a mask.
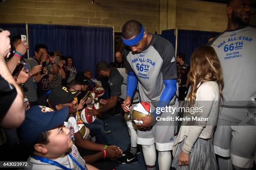
[[[86,124],[80,118],[82,110],[93,107],[95,99],[87,94],[99,94],[100,91],[95,89],[103,89],[101,81],[92,79],[90,70],[78,72],[71,56],[63,56],[60,51],[48,51],[44,44],[36,44],[34,56],[25,58],[23,56],[29,48],[26,41],[21,41],[20,36],[13,36],[11,40],[9,37],[9,31],[1,30],[0,81],[3,96],[0,147],[1,151],[12,152],[6,159],[28,160],[33,168],[37,168],[39,158],[36,157],[58,158],[69,152],[71,147],[72,156],[77,157],[77,153],[81,153],[81,159],[77,160],[80,165],[84,166],[86,160],[88,169],[97,169],[88,163],[119,157],[122,150],[108,143],[106,134],[111,131],[104,129],[108,124],[100,119]],[[96,102],[99,101],[101,104],[108,102],[102,99]],[[49,112],[51,118],[45,117],[44,112]],[[78,124],[85,125],[84,136]],[[63,137],[68,137],[67,143],[57,140],[60,129]],[[60,147],[63,148],[58,150]],[[74,150],[77,153],[74,154]]]

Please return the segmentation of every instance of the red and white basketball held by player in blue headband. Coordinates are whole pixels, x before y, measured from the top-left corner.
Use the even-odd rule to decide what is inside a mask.
[[[136,104],[132,110],[133,121],[136,124],[142,124],[143,121],[142,120],[138,121],[136,120],[136,118],[151,116],[154,110],[155,110],[155,107],[149,102],[140,102]]]

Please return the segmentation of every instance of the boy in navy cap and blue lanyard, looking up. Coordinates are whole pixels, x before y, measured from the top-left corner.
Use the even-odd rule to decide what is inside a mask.
[[[97,170],[85,164],[73,145],[69,129],[63,125],[67,115],[68,107],[54,111],[49,107],[34,106],[26,111],[20,142],[31,148],[27,169]]]

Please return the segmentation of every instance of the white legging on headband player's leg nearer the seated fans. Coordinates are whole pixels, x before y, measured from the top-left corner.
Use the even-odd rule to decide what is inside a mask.
[[[156,165],[156,147],[152,145],[141,145],[146,165]]]

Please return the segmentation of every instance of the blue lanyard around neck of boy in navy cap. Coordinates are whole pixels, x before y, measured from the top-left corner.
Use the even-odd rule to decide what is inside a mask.
[[[72,155],[70,155],[69,153],[67,153],[67,155],[69,155],[69,157],[80,167],[81,170],[84,170],[84,168],[82,167],[82,165],[74,158],[72,157]],[[70,168],[67,168],[63,165],[61,165],[59,162],[56,162],[55,160],[50,160],[46,157],[41,157],[41,156],[36,156],[36,155],[33,155],[33,157],[36,159],[36,160],[40,160],[41,162],[45,162],[45,163],[49,163],[51,165],[55,165],[57,167],[61,167],[62,169],[64,170],[72,170]],[[87,170],[87,167],[85,165],[85,170]]]

